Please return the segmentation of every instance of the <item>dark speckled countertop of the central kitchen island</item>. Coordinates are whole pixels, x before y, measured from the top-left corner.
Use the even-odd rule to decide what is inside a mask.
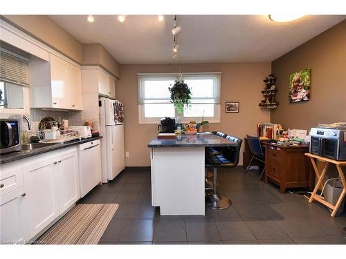
[[[158,139],[156,137],[148,144],[149,148],[203,146],[237,146],[237,143],[212,133],[199,133],[197,135],[177,135],[174,139]]]

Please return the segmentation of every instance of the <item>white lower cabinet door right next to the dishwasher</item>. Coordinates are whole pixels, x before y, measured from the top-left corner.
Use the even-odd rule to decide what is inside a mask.
[[[57,157],[55,175],[60,214],[80,198],[78,185],[78,153],[71,151]]]

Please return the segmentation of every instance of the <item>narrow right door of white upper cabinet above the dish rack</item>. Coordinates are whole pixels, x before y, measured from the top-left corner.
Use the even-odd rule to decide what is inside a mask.
[[[70,108],[83,110],[82,71],[77,66],[69,65]]]

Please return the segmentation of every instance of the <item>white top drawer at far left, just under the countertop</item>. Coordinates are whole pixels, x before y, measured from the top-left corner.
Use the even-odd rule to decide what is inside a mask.
[[[23,186],[23,169],[1,169],[0,196]]]

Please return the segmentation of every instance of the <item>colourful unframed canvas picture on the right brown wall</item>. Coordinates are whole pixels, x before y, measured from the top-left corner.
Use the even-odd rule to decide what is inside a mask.
[[[309,101],[310,68],[289,75],[289,102]]]

